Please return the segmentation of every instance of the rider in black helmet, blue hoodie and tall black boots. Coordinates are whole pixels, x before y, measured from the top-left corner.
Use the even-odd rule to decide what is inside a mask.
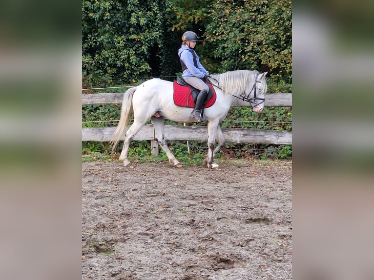
[[[196,98],[195,108],[191,112],[191,116],[199,122],[205,121],[204,116],[202,116],[202,109],[209,87],[204,80],[208,78],[209,72],[201,65],[199,57],[193,50],[197,41],[199,40],[195,32],[185,32],[182,36],[182,46],[178,51],[178,55],[182,65],[182,78],[188,84],[200,90]]]

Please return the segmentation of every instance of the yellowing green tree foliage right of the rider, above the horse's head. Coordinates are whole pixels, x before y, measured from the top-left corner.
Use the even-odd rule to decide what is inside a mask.
[[[209,19],[206,40],[219,72],[263,68],[291,83],[291,1],[214,1]]]

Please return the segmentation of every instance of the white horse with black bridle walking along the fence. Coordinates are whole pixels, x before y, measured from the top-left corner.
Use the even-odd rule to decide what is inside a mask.
[[[265,78],[267,73],[260,74],[258,71],[235,70],[208,77],[208,81],[214,86],[216,92],[214,104],[204,109],[208,126],[208,155],[204,160],[204,165],[206,164],[209,169],[218,167],[218,164],[214,162],[214,157],[225,144],[220,122],[226,118],[232,101],[235,98],[246,100],[256,113],[260,113],[264,109],[265,93],[268,88]],[[134,113],[134,121],[125,132],[131,107]],[[184,123],[196,122],[197,120],[191,116],[191,110],[191,108],[174,104],[173,82],[171,81],[155,78],[128,89],[122,101],[119,123],[112,136],[112,151],[115,150],[125,132],[124,146],[119,161],[124,162],[125,167],[131,165],[131,162],[127,159],[129,144],[142,126],[148,120],[151,120],[154,126],[155,140],[165,151],[169,162],[175,167],[182,166],[166,145],[164,119]],[[214,149],[215,140],[217,140],[218,145]]]

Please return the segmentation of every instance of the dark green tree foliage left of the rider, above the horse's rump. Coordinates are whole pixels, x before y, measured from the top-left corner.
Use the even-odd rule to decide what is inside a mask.
[[[82,70],[89,84],[135,83],[152,71],[170,0],[83,0]]]

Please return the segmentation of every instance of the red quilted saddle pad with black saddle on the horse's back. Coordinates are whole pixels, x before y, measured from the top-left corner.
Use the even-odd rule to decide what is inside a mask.
[[[207,80],[205,82],[209,86],[209,92],[204,100],[203,108],[208,108],[216,101],[216,92],[212,84]],[[177,77],[173,82],[174,87],[174,104],[180,107],[194,108],[197,95],[200,90],[189,85],[183,78]]]

